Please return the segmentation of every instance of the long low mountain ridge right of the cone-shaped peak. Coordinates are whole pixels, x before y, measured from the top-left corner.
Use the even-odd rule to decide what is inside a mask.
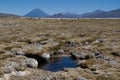
[[[120,18],[120,9],[103,11],[96,10],[84,14],[58,13],[51,16],[52,18]]]

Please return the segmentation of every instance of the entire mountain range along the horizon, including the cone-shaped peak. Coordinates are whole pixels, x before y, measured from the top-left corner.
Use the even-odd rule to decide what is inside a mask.
[[[0,16],[11,16],[11,17],[20,17],[18,15],[13,14],[5,14],[0,13]],[[76,13],[57,13],[53,15],[49,15],[48,13],[42,11],[41,9],[33,9],[32,11],[25,14],[23,17],[40,17],[40,18],[120,18],[120,9],[111,10],[111,11],[103,11],[103,10],[96,10],[93,12],[87,12],[83,14],[76,14]]]

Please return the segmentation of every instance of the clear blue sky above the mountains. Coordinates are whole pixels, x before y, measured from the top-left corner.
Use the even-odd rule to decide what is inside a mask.
[[[24,15],[34,8],[48,14],[75,12],[78,14],[94,10],[120,8],[120,0],[0,0],[0,13]]]

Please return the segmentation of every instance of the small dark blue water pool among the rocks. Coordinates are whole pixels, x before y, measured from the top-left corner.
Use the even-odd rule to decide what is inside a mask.
[[[76,62],[71,57],[54,57],[49,63],[41,64],[39,66],[41,69],[56,72],[63,70],[64,68],[74,68]]]

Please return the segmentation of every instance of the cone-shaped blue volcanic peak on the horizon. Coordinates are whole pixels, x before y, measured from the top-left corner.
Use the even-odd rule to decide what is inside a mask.
[[[48,17],[48,16],[49,14],[38,8],[33,9],[32,11],[24,15],[24,17]]]

